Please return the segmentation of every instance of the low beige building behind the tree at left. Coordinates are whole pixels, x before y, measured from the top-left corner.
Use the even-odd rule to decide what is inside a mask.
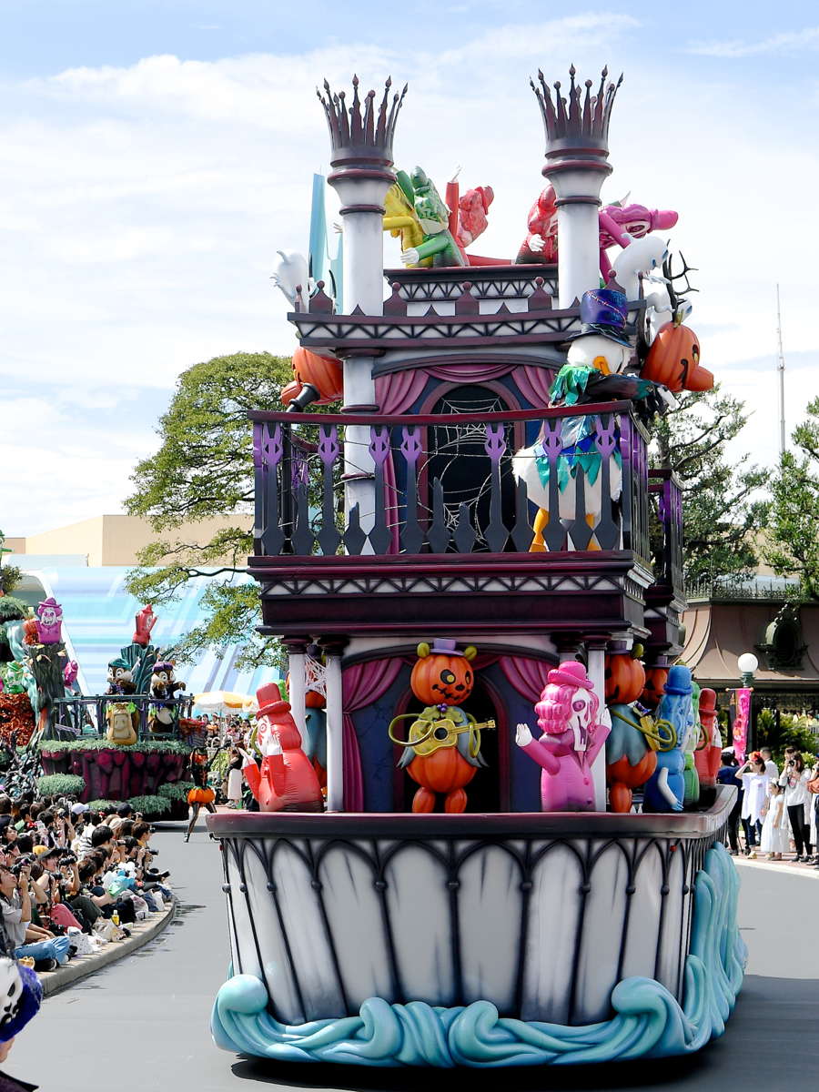
[[[183,523],[180,527],[171,527],[157,534],[146,520],[135,515],[96,515],[93,520],[82,520],[56,531],[44,531],[38,535],[27,535],[25,538],[7,538],[5,549],[13,554],[5,555],[8,560],[25,568],[26,556],[38,559],[73,558],[73,565],[98,567],[104,565],[131,566],[138,565],[136,553],[156,538],[167,538],[171,542],[202,545],[223,527],[240,526],[248,531],[253,525],[253,517],[233,515],[213,520],[202,520],[199,523]],[[163,559],[164,563],[170,558]],[[210,561],[209,565],[215,562]]]

